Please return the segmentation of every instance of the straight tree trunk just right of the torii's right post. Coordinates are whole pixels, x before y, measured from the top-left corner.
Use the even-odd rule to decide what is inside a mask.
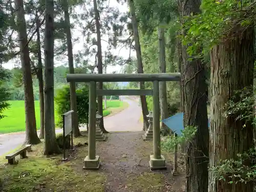
[[[164,28],[158,28],[158,38],[159,38],[159,72],[166,73],[166,62],[165,62],[165,36]],[[161,119],[168,118],[168,103],[166,95],[166,81],[159,82],[159,97],[160,97],[160,110]],[[162,123],[162,134],[164,136],[170,133],[169,128]]]

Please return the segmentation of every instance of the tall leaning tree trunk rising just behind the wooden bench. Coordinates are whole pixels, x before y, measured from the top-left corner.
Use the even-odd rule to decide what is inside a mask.
[[[25,93],[26,141],[27,144],[40,143],[36,132],[35,103],[33,95],[33,81],[31,75],[27,28],[24,4],[22,0],[15,0],[17,9],[17,29],[19,36],[20,59],[22,61],[23,83]]]

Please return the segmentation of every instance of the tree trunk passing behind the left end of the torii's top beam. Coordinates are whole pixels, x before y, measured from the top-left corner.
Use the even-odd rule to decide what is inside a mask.
[[[71,30],[70,30],[69,6],[68,6],[67,0],[63,0],[63,10],[64,10],[64,16],[65,16],[65,22],[66,22],[69,73],[74,74],[75,70],[74,70],[74,62],[73,62],[72,37],[71,37]],[[70,101],[71,101],[71,110],[74,111],[74,113],[72,114],[73,136],[79,137],[81,134],[79,131],[79,124],[78,124],[75,82],[70,82]]]

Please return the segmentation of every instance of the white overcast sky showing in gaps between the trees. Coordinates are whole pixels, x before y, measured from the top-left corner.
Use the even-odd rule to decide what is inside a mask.
[[[111,7],[117,7],[120,12],[127,12],[128,11],[127,4],[121,5],[121,4],[118,4],[115,0],[110,0],[110,6]],[[75,10],[78,13],[82,12],[81,7],[77,7]],[[72,22],[72,19],[71,19],[71,22]],[[79,42],[76,42],[76,44],[73,45],[73,53],[74,54],[78,53],[79,51],[82,51],[83,50],[83,45],[84,45],[84,43],[86,43],[86,39],[85,38],[83,39],[83,35],[82,35],[81,29],[79,29],[79,27],[75,27],[75,29],[72,31],[72,38],[77,38],[77,37],[79,38]],[[107,36],[103,35],[102,39],[104,39],[104,38],[108,39]],[[104,53],[104,51],[107,51],[106,50],[106,48],[108,46],[107,42],[101,40],[101,46],[102,46],[102,53]],[[119,48],[117,48],[116,50],[112,50],[111,52],[114,55],[119,55],[119,56],[123,57],[124,59],[129,58],[129,49],[127,49],[127,48],[120,49],[120,48],[121,48],[121,46]],[[131,52],[131,56],[132,57],[136,56],[134,51]],[[92,61],[92,65],[94,64],[94,58],[95,57],[93,56],[93,58],[90,59]],[[16,62],[17,62],[16,60],[12,59],[9,62],[4,63],[3,66],[5,68],[12,69],[12,68],[15,67],[15,65],[17,65]],[[54,65],[55,66],[63,65],[65,63],[68,63],[68,57],[63,58],[63,60],[61,60],[61,61],[58,61],[56,59],[54,60]],[[120,66],[116,66],[116,67],[109,66],[106,69],[107,73],[112,73],[113,71],[116,71],[117,73],[120,73],[121,72],[121,67]]]

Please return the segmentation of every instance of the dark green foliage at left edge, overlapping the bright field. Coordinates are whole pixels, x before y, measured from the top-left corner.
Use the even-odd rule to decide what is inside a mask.
[[[7,102],[10,93],[9,90],[4,87],[4,83],[10,78],[10,73],[4,68],[0,67],[0,119],[4,118],[4,110],[8,109],[10,104]]]

